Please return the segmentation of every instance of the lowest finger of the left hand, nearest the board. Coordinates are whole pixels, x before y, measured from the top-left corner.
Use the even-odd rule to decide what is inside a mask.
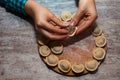
[[[51,40],[62,40],[65,39],[67,37],[67,35],[60,35],[60,34],[55,34],[55,33],[51,33],[49,31],[46,31],[44,29],[38,29],[40,33],[42,33],[43,35],[45,35],[47,38],[51,39]]]

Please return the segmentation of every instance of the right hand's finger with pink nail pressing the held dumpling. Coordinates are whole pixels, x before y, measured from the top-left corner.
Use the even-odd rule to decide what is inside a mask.
[[[70,25],[75,26],[79,23],[79,21],[82,19],[82,16],[84,15],[84,10],[78,9],[75,16],[73,17]]]

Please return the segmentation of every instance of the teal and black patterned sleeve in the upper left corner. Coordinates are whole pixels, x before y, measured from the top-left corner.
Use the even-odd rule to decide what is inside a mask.
[[[0,4],[6,9],[25,14],[25,4],[27,0],[0,0]]]

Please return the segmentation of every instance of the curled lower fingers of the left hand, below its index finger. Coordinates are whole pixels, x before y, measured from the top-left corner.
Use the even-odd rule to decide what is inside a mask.
[[[36,25],[36,29],[51,40],[61,40],[67,37],[68,31],[65,29],[57,28],[47,22],[43,26]]]

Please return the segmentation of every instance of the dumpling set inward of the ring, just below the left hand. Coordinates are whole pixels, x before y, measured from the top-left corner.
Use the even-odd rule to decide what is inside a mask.
[[[63,45],[59,41],[50,43],[51,51],[54,54],[61,54],[63,52]]]

